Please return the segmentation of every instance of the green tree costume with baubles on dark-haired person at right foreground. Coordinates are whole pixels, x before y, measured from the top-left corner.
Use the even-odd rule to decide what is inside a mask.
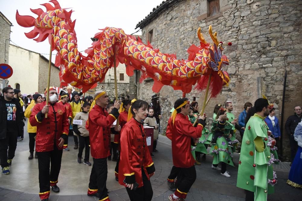
[[[264,118],[255,114],[246,124],[238,167],[237,187],[254,192],[255,201],[265,201],[267,193],[274,193],[274,187],[268,184],[268,179],[273,179],[273,167],[268,165],[271,150]]]

